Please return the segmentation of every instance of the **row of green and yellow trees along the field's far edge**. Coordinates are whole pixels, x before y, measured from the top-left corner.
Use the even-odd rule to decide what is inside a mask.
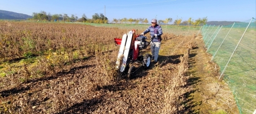
[[[98,14],[95,13],[94,15],[92,15],[92,18],[89,19],[86,17],[85,14],[82,15],[81,18],[78,18],[76,15],[71,14],[71,16],[69,17],[68,14],[53,14],[51,15],[50,13],[46,13],[44,11],[41,11],[39,13],[34,12],[32,14],[32,19],[37,19],[37,20],[48,20],[48,21],[69,21],[69,22],[87,22],[87,23],[98,23],[98,24],[102,24],[102,23],[108,23],[109,20],[107,17],[105,17],[102,13]],[[158,20],[158,24],[169,24],[172,23],[172,25],[176,25],[176,26],[199,26],[199,25],[204,25],[207,22],[207,17],[204,18],[198,18],[198,19],[192,19],[191,17],[188,20],[182,21],[182,18],[177,18],[176,20],[173,21],[172,18],[166,18],[164,20],[159,19]],[[136,19],[132,19],[132,18],[123,18],[123,19],[116,19],[114,18],[112,20],[111,23],[115,23],[115,24],[148,24],[148,19],[146,18],[136,18]]]

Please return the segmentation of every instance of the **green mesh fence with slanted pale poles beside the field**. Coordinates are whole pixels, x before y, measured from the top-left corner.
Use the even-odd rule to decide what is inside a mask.
[[[256,19],[226,26],[204,25],[202,36],[212,61],[234,93],[240,114],[256,109]]]

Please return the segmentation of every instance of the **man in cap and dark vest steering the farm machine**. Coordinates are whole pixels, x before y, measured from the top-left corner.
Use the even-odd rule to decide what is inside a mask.
[[[154,60],[154,62],[158,62],[158,53],[160,49],[160,44],[161,44],[161,35],[162,35],[162,27],[157,24],[156,19],[152,19],[151,21],[151,26],[148,27],[141,35],[144,35],[146,33],[150,32],[151,40],[150,43],[150,48],[151,48],[151,53],[152,53],[152,58],[151,60]]]

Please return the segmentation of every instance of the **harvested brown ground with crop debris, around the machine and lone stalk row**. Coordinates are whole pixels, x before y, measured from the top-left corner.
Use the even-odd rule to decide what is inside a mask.
[[[16,111],[20,108],[34,114],[162,114],[163,109],[166,110],[172,74],[177,72],[180,58],[189,45],[193,45],[188,58],[189,78],[182,86],[188,91],[180,96],[182,98],[174,98],[184,99],[181,112],[216,114],[222,110],[238,114],[228,85],[218,81],[218,66],[210,62],[211,56],[205,52],[202,39],[194,36],[173,36],[162,41],[158,63],[146,70],[137,65],[132,79],[118,77],[116,81],[104,77],[105,74],[97,72],[104,70],[101,68],[105,66],[98,64],[104,60],[89,57],[57,74],[7,87],[0,95],[6,105],[8,102],[15,105]],[[4,111],[4,105],[0,106],[0,113],[15,113]]]

